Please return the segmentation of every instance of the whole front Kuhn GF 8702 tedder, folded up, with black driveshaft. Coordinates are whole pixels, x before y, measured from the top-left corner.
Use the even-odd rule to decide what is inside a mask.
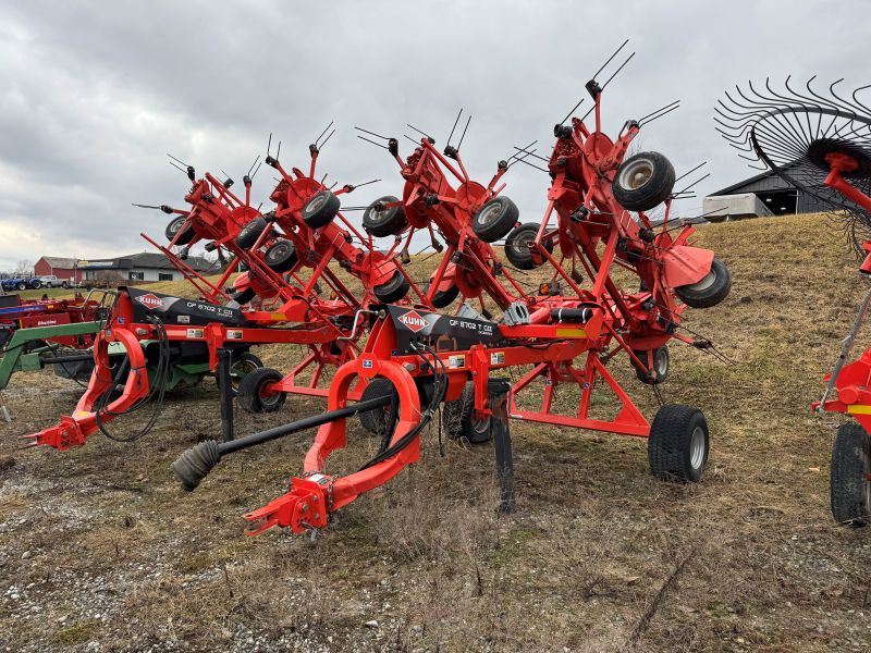
[[[406,223],[422,229],[431,221],[449,247],[431,276],[430,298],[450,288],[450,284],[439,283],[439,275],[450,279],[447,270],[453,264],[453,280],[464,279],[456,283],[458,292],[466,297],[480,295],[470,287],[473,274],[477,275],[477,286],[503,310],[501,320],[496,322],[468,304],[456,315],[390,305],[360,309],[358,315],[372,322],[371,333],[360,356],[333,377],[327,412],[233,442],[200,443],[172,465],[183,486],[196,488],[225,455],[319,427],[305,457],[304,473],[291,480],[286,494],[245,516],[254,522],[250,533],[275,526],[295,532],[317,531],[327,526],[332,513],[419,459],[421,433],[442,403],[446,414],[473,424],[471,431],[495,439],[506,507],[513,495],[508,417],[648,438],[653,473],[698,481],[708,457],[708,426],[701,411],[664,405],[649,423],[606,364],[625,352],[639,378],[651,384],[663,381],[668,365],[665,346],[671,338],[700,348],[710,346],[677,332],[685,305],[708,307],[722,301],[731,275],[712,251],[689,244],[691,226],[670,221],[675,195],[671,163],[655,152],[625,159],[629,143],[646,121],[627,122],[612,140],[601,131],[602,87],[591,81],[587,89],[594,102],[594,123],[573,119],[571,125],[556,126],[547,170],[552,183],[541,225],[517,225],[516,209],[496,197],[495,182],[470,187],[458,148],[449,145],[442,156],[433,139],[424,134],[413,155],[403,161],[397,141],[388,138],[384,147],[402,165],[405,193],[402,201],[387,197],[377,202],[373,208],[379,214],[372,222],[370,212],[370,229],[395,222],[396,226],[389,232],[384,226],[384,231],[396,233]],[[666,107],[650,114],[647,122],[670,110]],[[522,152],[518,158],[529,153],[526,148]],[[456,160],[459,171],[449,158]],[[500,172],[506,167],[500,164]],[[438,176],[441,168],[459,180],[458,188]],[[645,211],[662,202],[665,220],[654,229]],[[439,207],[443,212],[433,212]],[[673,236],[676,229],[679,231]],[[508,259],[518,272],[548,266],[550,281],[540,284],[535,294],[512,283],[487,248],[470,247],[468,242],[488,244],[506,235],[506,249],[514,248]],[[571,272],[565,270],[569,264]],[[615,266],[640,278],[638,292],[619,287],[612,275]],[[458,270],[463,272],[457,274]],[[526,366],[531,370],[512,389],[502,374]],[[349,405],[348,391],[358,378],[370,383],[380,380],[389,390]],[[540,404],[527,408],[518,395],[533,382],[542,391]],[[580,392],[577,410],[571,415],[556,411],[560,385]],[[602,389],[616,398],[610,417],[599,415],[592,406],[593,392]],[[328,457],[346,445],[347,418],[372,412],[380,417],[373,421],[383,424],[378,453],[355,472],[329,472]]]

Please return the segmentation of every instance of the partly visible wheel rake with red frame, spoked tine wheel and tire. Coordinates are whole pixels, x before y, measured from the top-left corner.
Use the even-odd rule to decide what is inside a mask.
[[[859,271],[871,280],[871,108],[859,98],[871,86],[846,93],[841,82],[827,90],[814,88],[813,78],[802,87],[789,77],[782,88],[772,88],[769,79],[736,87],[720,101],[715,120],[741,158],[773,170],[843,220],[862,259]],[[871,289],[825,377],[822,399],[813,404],[820,414],[856,419],[835,435],[830,488],[833,516],[854,526],[871,521],[871,349],[847,360],[869,307]]]

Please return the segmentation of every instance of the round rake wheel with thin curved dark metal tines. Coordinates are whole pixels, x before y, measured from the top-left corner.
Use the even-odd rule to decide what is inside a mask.
[[[748,82],[736,86],[714,108],[716,131],[757,170],[772,170],[801,193],[814,197],[841,218],[857,250],[871,238],[871,213],[825,181],[836,161],[847,162],[841,175],[866,195],[871,194],[871,108],[861,102],[862,86],[849,98],[838,94],[838,79],[822,93],[811,77],[801,89],[786,78],[774,89]]]

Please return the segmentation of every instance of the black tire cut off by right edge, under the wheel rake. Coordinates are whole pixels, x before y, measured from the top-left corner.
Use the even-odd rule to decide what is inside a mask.
[[[854,527],[871,522],[871,438],[856,422],[842,424],[832,446],[832,516]]]

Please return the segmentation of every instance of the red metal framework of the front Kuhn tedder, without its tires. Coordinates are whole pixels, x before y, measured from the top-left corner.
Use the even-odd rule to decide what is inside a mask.
[[[440,275],[446,276],[449,266],[459,258],[468,260],[468,270],[479,275],[474,292],[466,293],[461,287],[465,296],[476,297],[487,292],[506,315],[516,313],[519,306],[525,309],[519,315],[526,317],[495,324],[461,315],[452,318],[414,309],[381,309],[363,354],[343,365],[333,378],[328,411],[347,405],[347,391],[354,379],[389,380],[396,392],[398,416],[385,455],[348,476],[330,476],[324,472],[326,460],[331,452],[345,446],[346,424],[345,419],[338,419],[321,426],[305,458],[304,475],[292,479],[286,494],[245,516],[255,522],[249,533],[274,526],[289,527],[295,532],[323,528],[330,513],[418,460],[421,411],[428,412],[421,407],[425,402],[419,389],[440,374],[446,379],[445,402],[456,401],[471,382],[475,416],[487,419],[493,415],[488,403],[491,371],[531,365],[532,370],[511,393],[510,417],[640,438],[650,434],[648,420],[604,364],[625,350],[637,369],[649,371],[653,349],[671,338],[698,345],[676,333],[684,306],[673,292],[711,273],[714,257],[712,251],[690,245],[691,226],[682,225],[674,237],[668,233],[671,200],[666,202],[660,233],[654,233],[643,212],[636,221],[617,202],[611,185],[639,124],[630,121],[615,141],[610,139],[601,132],[601,89],[591,82],[588,90],[596,102],[594,128],[590,131],[582,120],[575,119],[571,127],[557,125],[555,130],[557,141],[549,160],[552,186],[548,207],[536,237],[529,242],[537,263],[549,263],[553,271],[551,282],[541,284],[536,295],[524,293],[500,267],[490,245],[474,233],[475,215],[502,190],[502,186],[494,186],[506,167],[500,165],[488,187],[473,188],[462,161],[453,156],[455,152],[449,156],[456,158],[459,171],[436,151],[429,138],[421,139],[406,161],[398,158],[397,141],[388,139],[388,149],[402,165],[406,186],[402,201],[382,202],[378,208],[404,207],[412,229],[430,227],[431,221],[449,244],[431,278],[428,298],[433,299]],[[446,167],[462,182],[464,193],[446,184],[440,167]],[[554,212],[557,220],[552,226]],[[557,256],[551,254],[551,243],[559,245]],[[564,269],[567,262],[571,272]],[[614,266],[637,273],[646,289],[635,293],[621,289],[612,278]],[[590,285],[585,284],[582,274]],[[500,279],[508,280],[516,295]],[[471,329],[480,335],[483,330],[493,342],[461,348],[452,346],[455,338],[446,337],[436,343],[437,350],[432,350],[418,347],[415,344],[418,336],[405,333],[417,333],[440,320],[447,320],[458,332]],[[400,331],[404,332],[404,341],[410,338],[410,353],[400,349]],[[638,350],[650,354],[648,360],[641,360],[635,353]],[[537,379],[544,381],[540,408],[523,410],[516,396]],[[580,389],[575,415],[554,412],[554,393],[561,383]],[[612,419],[590,417],[592,392],[602,384],[613,391],[619,403]]]

